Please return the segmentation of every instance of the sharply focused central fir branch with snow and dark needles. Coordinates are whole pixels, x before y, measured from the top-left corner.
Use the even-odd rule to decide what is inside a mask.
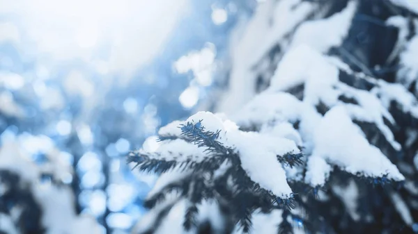
[[[172,131],[167,129],[169,126]],[[198,205],[211,201],[218,203],[219,209],[228,210],[232,215],[229,222],[237,222],[245,232],[251,228],[255,210],[294,208],[284,167],[300,165],[302,154],[292,140],[240,131],[233,122],[210,112],[198,112],[183,124],[169,126],[161,132],[185,139],[162,140],[156,151],[140,150],[128,158],[140,169],[177,175],[160,178],[164,186],[159,185],[161,190],[148,197],[151,208],[176,190],[177,201],[189,204],[184,218],[186,230],[199,226],[193,222]],[[180,128],[180,134],[176,128]],[[186,176],[179,176],[179,170]]]

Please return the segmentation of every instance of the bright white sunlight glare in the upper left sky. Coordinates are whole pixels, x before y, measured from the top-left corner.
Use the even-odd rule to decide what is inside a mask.
[[[42,54],[42,62],[80,59],[100,74],[129,76],[164,48],[188,1],[0,0],[7,5],[0,12],[15,15],[1,24],[7,35],[0,40],[12,40],[21,53]]]

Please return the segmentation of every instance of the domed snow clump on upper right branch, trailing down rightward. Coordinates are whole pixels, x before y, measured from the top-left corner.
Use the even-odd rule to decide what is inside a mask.
[[[394,140],[394,135],[384,124],[383,118],[385,117],[392,123],[394,120],[376,97],[377,94],[357,90],[341,83],[339,81],[339,67],[334,62],[331,58],[318,53],[305,44],[290,49],[279,62],[268,92],[284,92],[303,84],[304,103],[314,106],[322,101],[330,107],[343,105],[353,119],[376,124],[392,147],[400,149],[400,144]],[[341,94],[355,98],[358,105],[339,101]]]

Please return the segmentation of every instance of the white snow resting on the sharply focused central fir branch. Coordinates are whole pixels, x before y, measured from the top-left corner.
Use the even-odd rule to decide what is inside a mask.
[[[260,184],[266,190],[270,190],[278,197],[286,198],[292,193],[291,187],[286,181],[286,172],[277,160],[277,156],[283,156],[290,152],[299,153],[297,144],[293,139],[289,140],[285,137],[293,137],[301,143],[300,136],[294,129],[293,131],[288,129],[285,135],[272,132],[243,132],[238,130],[238,126],[231,120],[226,119],[225,116],[214,115],[211,112],[197,112],[183,123],[197,123],[199,121],[201,121],[201,126],[204,127],[205,131],[221,131],[218,138],[219,142],[238,153],[241,166],[252,181]],[[181,124],[181,122],[175,122],[174,124]],[[164,134],[178,134],[174,124],[164,127]],[[291,126],[287,127],[291,128]],[[146,153],[144,150],[141,152]],[[188,159],[200,162],[203,158],[210,157],[210,154],[204,152],[204,147],[199,148],[196,144],[181,139],[162,142],[155,151],[147,154],[155,158],[178,162]],[[162,179],[162,181],[165,180]]]

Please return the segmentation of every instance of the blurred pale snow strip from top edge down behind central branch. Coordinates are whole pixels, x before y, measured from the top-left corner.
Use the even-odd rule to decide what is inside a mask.
[[[235,36],[238,41],[231,42],[230,85],[224,99],[219,102],[218,111],[233,113],[254,96],[256,73],[251,67],[272,47],[283,43],[293,28],[316,10],[316,6],[301,0],[268,0],[259,4],[245,31]]]

